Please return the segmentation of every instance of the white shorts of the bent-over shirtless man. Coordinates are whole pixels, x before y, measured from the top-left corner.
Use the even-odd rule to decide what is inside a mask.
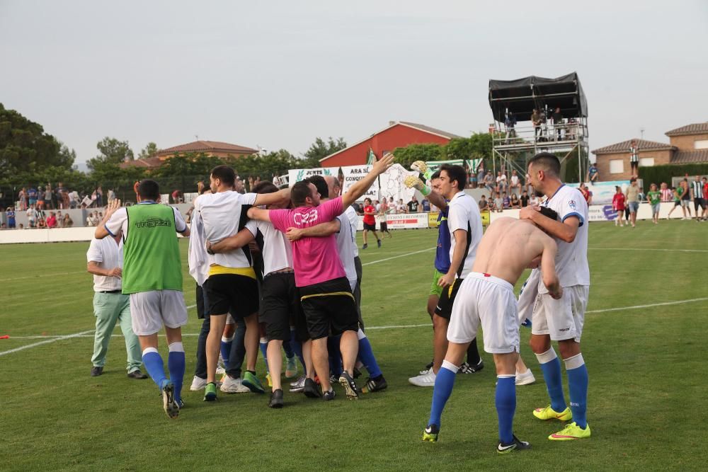
[[[486,352],[519,352],[519,318],[514,287],[498,277],[471,272],[459,286],[452,305],[447,340],[457,344],[469,343],[476,338],[480,323]]]

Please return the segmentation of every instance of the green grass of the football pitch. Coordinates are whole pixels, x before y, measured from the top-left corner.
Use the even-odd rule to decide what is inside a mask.
[[[708,297],[708,226],[693,221],[641,222],[636,229],[590,228],[589,311]],[[432,248],[435,231],[394,231],[363,263]],[[0,246],[0,352],[37,343],[31,335],[91,330],[92,280],[86,243]],[[186,271],[185,299],[194,304]],[[653,251],[690,249],[695,252]],[[628,251],[634,249],[636,251]],[[367,326],[429,323],[426,299],[433,251],[365,265],[362,310]],[[432,389],[407,378],[430,359],[431,329],[370,330],[389,382],[382,393],[323,403],[285,392],[285,408],[267,396],[220,394],[203,403],[185,391],[180,418],[164,415],[152,381],[125,377],[125,347],[114,338],[103,376],[92,378],[91,338],[72,338],[0,356],[0,468],[5,470],[600,470],[704,469],[708,453],[705,326],[708,301],[588,313],[583,357],[590,373],[588,420],[593,437],[549,442],[559,422],[532,418],[547,393],[522,328],[522,355],[539,383],[518,388],[515,432],[532,443],[498,456],[493,363],[457,376],[438,444],[421,442]],[[197,333],[190,309],[185,333]],[[120,333],[120,330],[116,331]],[[194,336],[185,337],[187,387]],[[481,342],[480,342],[481,348]],[[161,345],[161,352],[165,352]],[[262,361],[259,361],[262,362]],[[263,364],[259,363],[263,374]],[[341,392],[338,392],[341,393]]]

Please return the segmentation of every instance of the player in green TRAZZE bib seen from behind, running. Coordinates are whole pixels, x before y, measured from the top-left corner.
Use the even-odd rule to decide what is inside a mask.
[[[187,324],[187,307],[175,231],[189,236],[189,228],[178,209],[159,205],[160,188],[154,180],[141,180],[137,195],[137,205],[132,207],[120,208],[120,200],[113,200],[94,236],[103,239],[118,231],[123,235],[122,293],[130,294],[132,329],[140,341],[145,369],[162,391],[165,413],[177,418],[183,405],[181,327]],[[157,351],[157,333],[162,326],[169,345],[169,379]]]

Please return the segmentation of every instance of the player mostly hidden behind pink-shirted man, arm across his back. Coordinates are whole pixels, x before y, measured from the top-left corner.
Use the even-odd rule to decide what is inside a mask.
[[[315,185],[322,202],[330,200],[329,195],[339,195],[339,191],[341,190],[339,181],[331,175],[327,177],[312,175],[312,177],[307,180]],[[349,286],[355,295],[354,299],[357,304],[359,317],[359,330],[357,331],[359,359],[364,367],[366,367],[367,372],[369,372],[369,378],[366,379],[366,383],[361,391],[362,393],[372,393],[384,390],[387,388],[388,384],[381,373],[369,338],[367,338],[363,330],[364,322],[361,316],[361,289],[359,287],[361,283],[361,272],[357,270],[354,256],[356,250],[355,226],[350,224],[346,213],[347,212],[344,212],[329,223],[321,223],[317,226],[310,226],[304,229],[290,228],[287,231],[287,238],[289,238],[290,241],[297,241],[304,236],[324,237],[330,236],[331,234],[335,235],[339,259],[344,267],[344,272],[346,272]],[[359,265],[359,267],[361,267],[361,265]],[[357,293],[358,297],[356,295]]]

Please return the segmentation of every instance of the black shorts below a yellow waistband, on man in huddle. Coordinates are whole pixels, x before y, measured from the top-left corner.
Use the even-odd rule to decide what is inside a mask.
[[[258,282],[246,275],[211,275],[202,287],[210,316],[244,318],[258,311]]]

